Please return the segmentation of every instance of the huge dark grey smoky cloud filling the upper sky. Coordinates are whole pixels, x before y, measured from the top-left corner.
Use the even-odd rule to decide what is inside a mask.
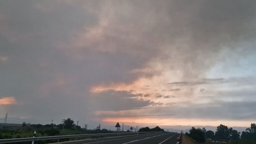
[[[190,83],[224,61],[218,59],[223,50],[238,54],[237,59],[255,50],[241,44],[240,52],[236,45],[254,44],[255,3],[0,1],[0,96],[13,96],[19,104],[2,106],[1,112],[46,123],[66,116],[86,121],[92,104],[96,110],[131,109],[129,103],[137,109],[159,106],[133,99],[141,95],[91,94],[90,88],[160,75],[162,70],[133,72],[154,60],[180,71],[181,82],[169,85],[213,81]]]

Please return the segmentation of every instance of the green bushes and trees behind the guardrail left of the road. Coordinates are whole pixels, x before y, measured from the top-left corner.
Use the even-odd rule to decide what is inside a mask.
[[[22,128],[15,129],[15,130],[12,130],[12,129],[0,130],[0,139],[33,137],[34,131],[36,131],[36,137],[75,135],[75,134],[116,133],[116,131],[109,131],[107,129],[87,130],[85,128],[81,128],[80,126],[76,126],[74,124],[74,121],[68,118],[64,122],[64,129],[63,129],[63,124],[59,124],[59,125],[31,124],[29,127],[27,127],[27,124],[24,122],[22,124]],[[85,139],[85,138],[95,138],[95,137],[82,137],[82,138],[77,138],[77,140]],[[69,140],[75,140],[75,138],[59,139],[60,142],[69,141]],[[57,142],[57,140],[35,141],[35,144],[44,144],[44,143],[53,143],[53,142]],[[19,144],[31,144],[31,142],[22,142]]]

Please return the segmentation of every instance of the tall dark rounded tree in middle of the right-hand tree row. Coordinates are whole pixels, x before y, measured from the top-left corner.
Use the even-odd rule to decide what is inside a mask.
[[[225,125],[219,125],[217,131],[215,132],[215,138],[221,141],[228,141],[229,138],[229,129]]]

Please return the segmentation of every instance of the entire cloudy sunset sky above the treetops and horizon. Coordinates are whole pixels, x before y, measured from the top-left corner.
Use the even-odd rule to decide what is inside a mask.
[[[249,127],[254,0],[2,0],[0,123]]]

